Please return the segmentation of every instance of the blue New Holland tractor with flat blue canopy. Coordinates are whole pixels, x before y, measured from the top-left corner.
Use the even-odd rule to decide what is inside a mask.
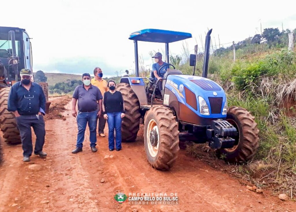
[[[211,32],[206,36],[202,76],[195,76],[194,71],[193,75],[182,74],[169,64],[163,79],[158,80],[139,76],[138,41],[165,43],[165,58],[169,63],[169,43],[192,35],[144,29],[129,37],[135,47],[136,76],[122,77],[117,86],[126,106],[122,139],[135,140],[140,122],[143,123],[147,160],[156,169],[168,170],[173,166],[179,139],[199,144],[208,142],[219,158],[229,162],[246,162],[258,148],[259,130],[254,117],[243,108],[228,108],[223,88],[207,79]],[[195,58],[196,55],[190,55],[194,69]],[[162,92],[158,89],[159,82]]]

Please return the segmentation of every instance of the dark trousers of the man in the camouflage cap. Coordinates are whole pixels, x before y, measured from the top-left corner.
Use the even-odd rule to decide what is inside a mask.
[[[31,156],[33,152],[32,144],[32,130],[36,135],[34,153],[42,151],[45,137],[45,123],[43,116],[39,116],[37,119],[36,115],[21,115],[16,117],[17,128],[20,130],[20,137],[22,140],[22,150],[24,156]]]

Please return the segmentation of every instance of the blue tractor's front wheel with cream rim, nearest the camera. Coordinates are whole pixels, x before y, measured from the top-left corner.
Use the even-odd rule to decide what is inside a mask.
[[[152,124],[152,130],[158,131],[158,148],[156,146],[155,150],[150,141]],[[147,160],[153,168],[169,170],[173,166],[180,149],[179,130],[176,117],[168,107],[157,105],[147,111],[144,119],[144,146]]]

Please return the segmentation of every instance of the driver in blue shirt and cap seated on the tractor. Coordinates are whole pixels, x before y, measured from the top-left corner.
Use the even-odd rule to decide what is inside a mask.
[[[155,63],[152,65],[152,72],[154,74],[154,79],[157,81],[158,79],[162,79],[165,75],[165,72],[169,69],[168,63],[163,62],[163,55],[160,52],[156,52],[152,57],[154,58]],[[160,67],[163,66],[163,68]],[[163,85],[162,81],[158,82],[158,89],[160,90],[161,95],[163,96]]]

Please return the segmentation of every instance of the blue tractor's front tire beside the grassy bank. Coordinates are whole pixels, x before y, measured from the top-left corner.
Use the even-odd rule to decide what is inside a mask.
[[[227,109],[226,120],[237,129],[236,145],[230,149],[217,149],[217,156],[228,162],[247,162],[254,157],[259,146],[255,117],[246,109],[234,106]]]

